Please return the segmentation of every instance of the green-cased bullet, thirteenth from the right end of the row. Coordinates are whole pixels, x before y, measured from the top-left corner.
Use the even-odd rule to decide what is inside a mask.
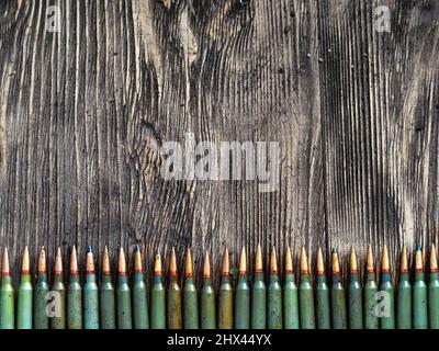
[[[243,247],[239,259],[239,279],[235,294],[235,329],[250,328],[250,286],[247,276],[246,248]]]

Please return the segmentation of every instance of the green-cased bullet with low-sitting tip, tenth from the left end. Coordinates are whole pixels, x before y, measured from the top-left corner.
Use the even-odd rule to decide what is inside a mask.
[[[160,254],[156,254],[156,261],[154,267],[154,281],[151,288],[151,329],[165,329],[166,328],[166,292],[162,283],[162,271],[161,271],[161,258]]]

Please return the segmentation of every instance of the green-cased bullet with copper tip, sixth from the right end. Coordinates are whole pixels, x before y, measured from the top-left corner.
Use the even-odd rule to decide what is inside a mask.
[[[350,282],[349,293],[349,329],[363,329],[363,292],[360,283],[357,253],[350,250]]]

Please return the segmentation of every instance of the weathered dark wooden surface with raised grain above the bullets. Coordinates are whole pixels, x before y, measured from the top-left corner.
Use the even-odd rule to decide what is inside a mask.
[[[346,253],[439,229],[439,3],[0,1],[0,245],[113,263],[261,241]],[[392,10],[374,31],[376,5]],[[278,140],[281,188],[162,180],[158,148]],[[233,261],[236,262],[236,254]],[[180,262],[181,264],[182,262]]]

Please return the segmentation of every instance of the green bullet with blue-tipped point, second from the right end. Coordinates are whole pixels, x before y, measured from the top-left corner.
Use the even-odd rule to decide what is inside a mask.
[[[424,278],[424,259],[420,246],[416,246],[415,283],[413,284],[413,328],[428,329],[427,284]]]

